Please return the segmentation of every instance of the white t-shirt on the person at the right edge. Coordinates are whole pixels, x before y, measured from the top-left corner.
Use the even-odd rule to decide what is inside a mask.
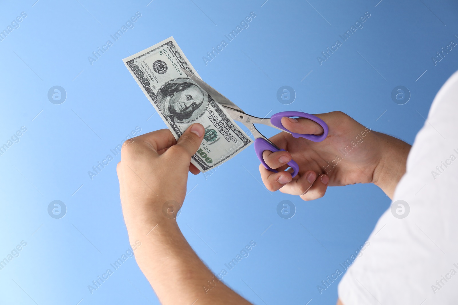
[[[437,93],[370,246],[339,283],[342,303],[458,304],[457,219],[458,71]]]

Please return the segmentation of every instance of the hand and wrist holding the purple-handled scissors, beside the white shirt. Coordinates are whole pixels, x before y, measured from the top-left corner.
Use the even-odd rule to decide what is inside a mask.
[[[387,134],[371,131],[343,112],[316,114],[329,126],[327,138],[313,142],[276,134],[270,140],[286,151],[263,152],[264,161],[278,173],[259,166],[270,191],[299,195],[304,200],[323,197],[328,186],[375,183],[388,197],[405,172],[410,145]],[[305,118],[282,118],[285,128],[298,134],[322,134],[319,124]],[[295,160],[299,174],[291,177],[286,163]]]

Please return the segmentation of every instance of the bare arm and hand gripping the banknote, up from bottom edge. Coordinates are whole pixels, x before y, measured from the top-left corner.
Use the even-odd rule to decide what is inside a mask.
[[[191,157],[204,133],[194,123],[176,144],[173,134],[162,129],[123,145],[116,171],[125,225],[129,239],[142,242],[135,258],[162,304],[250,304],[213,275],[175,219],[167,218],[185,199],[188,171],[198,172]]]

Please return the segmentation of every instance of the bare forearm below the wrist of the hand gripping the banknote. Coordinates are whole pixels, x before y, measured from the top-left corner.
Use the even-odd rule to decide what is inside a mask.
[[[142,241],[136,261],[161,304],[250,304],[203,264],[175,220],[136,223],[129,238]]]

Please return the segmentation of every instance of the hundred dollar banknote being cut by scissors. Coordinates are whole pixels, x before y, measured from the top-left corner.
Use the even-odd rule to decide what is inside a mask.
[[[252,143],[224,108],[185,74],[183,70],[200,78],[173,37],[123,62],[175,139],[191,124],[203,125],[205,135],[191,159],[200,171],[211,170]]]

